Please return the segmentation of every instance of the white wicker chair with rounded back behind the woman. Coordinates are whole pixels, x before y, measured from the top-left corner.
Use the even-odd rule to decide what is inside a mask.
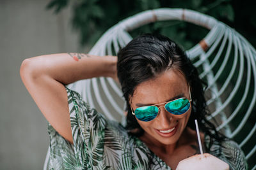
[[[248,121],[252,110],[255,110],[256,52],[243,36],[222,22],[191,10],[170,8],[148,10],[122,20],[111,27],[93,46],[90,54],[116,55],[120,48],[131,41],[132,37],[129,35],[129,31],[141,25],[161,20],[184,20],[210,30],[200,43],[186,53],[193,64],[202,70],[200,77],[209,85],[207,104],[212,117],[218,120],[218,131],[225,132],[230,138],[236,137],[237,134],[244,131],[244,124]],[[221,81],[220,76],[223,73],[227,74],[227,78]],[[230,81],[234,78],[236,78],[236,83],[232,85]],[[250,88],[252,86],[253,89]],[[70,84],[69,87],[82,94],[85,101],[104,113],[109,119],[125,120],[122,91],[111,78],[81,80]],[[237,94],[243,94],[243,96],[239,98],[236,108],[232,109],[230,103]],[[244,101],[250,101],[250,104],[246,104]],[[244,116],[239,120],[239,124],[235,125],[236,127],[232,126],[230,122],[239,115],[239,111],[243,107],[248,107],[246,113],[243,113]],[[208,119],[211,120],[212,117],[208,117]],[[243,141],[237,141],[239,146],[243,148],[244,145],[252,144],[250,141],[253,138],[253,133],[255,134],[255,129],[256,124],[250,131],[243,132],[246,135]],[[250,151],[245,153],[246,159],[255,157],[255,151],[256,146],[253,143]],[[45,160],[45,164],[47,160]],[[253,169],[256,169],[256,166]]]

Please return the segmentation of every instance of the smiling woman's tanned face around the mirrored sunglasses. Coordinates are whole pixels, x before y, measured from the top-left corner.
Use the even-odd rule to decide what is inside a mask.
[[[180,97],[190,99],[188,83],[179,71],[170,69],[159,74],[157,78],[140,83],[134,90],[131,107],[135,110],[140,106],[165,103]],[[164,106],[164,104],[157,106]],[[172,115],[161,107],[157,117],[150,122],[136,119],[144,129],[145,136],[150,138],[148,140],[152,142],[159,141],[164,145],[172,145],[180,138],[190,114],[191,108],[184,115]]]

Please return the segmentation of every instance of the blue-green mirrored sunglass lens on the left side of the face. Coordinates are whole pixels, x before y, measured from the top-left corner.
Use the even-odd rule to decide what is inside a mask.
[[[143,106],[140,108],[136,108],[136,110],[134,110],[134,113],[138,120],[148,122],[156,118],[158,108],[156,106]]]

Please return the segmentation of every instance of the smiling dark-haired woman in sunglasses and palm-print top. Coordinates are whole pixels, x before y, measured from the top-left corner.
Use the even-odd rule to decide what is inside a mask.
[[[179,46],[145,34],[117,58],[60,53],[22,62],[22,81],[49,122],[49,168],[176,169],[180,160],[198,153],[195,119],[205,152],[230,169],[246,168],[239,146],[206,120],[202,81]],[[127,102],[125,128],[65,87],[99,76],[116,80],[116,75]]]

